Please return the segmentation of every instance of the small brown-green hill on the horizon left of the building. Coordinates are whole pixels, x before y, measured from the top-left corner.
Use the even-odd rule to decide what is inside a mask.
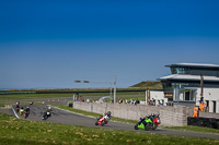
[[[147,82],[140,82],[136,85],[129,86],[129,88],[150,88],[150,89],[163,89],[162,83],[161,82],[153,82],[153,81],[147,81]]]

